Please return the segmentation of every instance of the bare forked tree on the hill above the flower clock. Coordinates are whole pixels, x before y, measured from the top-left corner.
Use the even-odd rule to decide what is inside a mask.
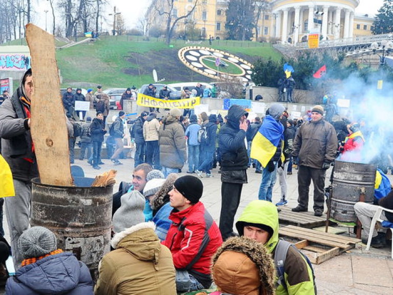
[[[155,0],[151,4],[152,7],[157,11],[160,16],[164,16],[166,18],[166,29],[165,29],[165,39],[166,44],[170,44],[170,39],[173,35],[173,30],[176,28],[176,25],[180,20],[184,18],[188,18],[195,10],[199,0],[191,0],[190,4],[191,9],[184,15],[178,16],[175,15],[174,12],[174,2],[175,0]]]

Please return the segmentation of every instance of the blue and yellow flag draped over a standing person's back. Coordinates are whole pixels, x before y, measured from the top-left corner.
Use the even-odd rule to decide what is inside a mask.
[[[254,136],[251,143],[251,158],[256,159],[259,163],[266,167],[270,159],[277,151],[277,145],[281,141],[281,151],[284,145],[284,127],[277,122],[272,116],[268,115],[264,118],[264,122]],[[284,156],[281,153],[281,161]]]

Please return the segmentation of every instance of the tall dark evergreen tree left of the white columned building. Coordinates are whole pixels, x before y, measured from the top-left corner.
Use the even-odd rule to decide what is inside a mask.
[[[227,38],[250,40],[253,37],[255,3],[253,0],[229,0],[227,9]]]

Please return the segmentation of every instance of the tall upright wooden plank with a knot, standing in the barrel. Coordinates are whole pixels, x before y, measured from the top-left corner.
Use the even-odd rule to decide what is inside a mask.
[[[31,137],[41,183],[71,186],[68,133],[55,56],[54,36],[27,24],[32,59]]]

